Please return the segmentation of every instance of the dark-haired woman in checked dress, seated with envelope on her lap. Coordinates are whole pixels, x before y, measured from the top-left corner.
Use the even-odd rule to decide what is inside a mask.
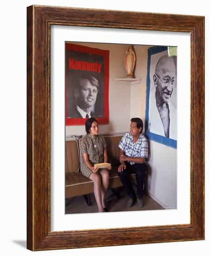
[[[87,135],[81,141],[81,154],[84,159],[81,173],[93,181],[98,212],[105,212],[107,211],[105,194],[109,185],[109,171],[94,168],[94,164],[108,161],[106,142],[102,136],[98,135],[98,121],[95,118],[87,119],[85,130]],[[109,168],[111,169],[112,167]]]

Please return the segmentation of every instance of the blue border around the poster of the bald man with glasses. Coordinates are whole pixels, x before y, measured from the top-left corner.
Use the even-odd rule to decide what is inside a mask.
[[[146,80],[146,109],[145,109],[145,135],[151,141],[164,144],[171,148],[177,148],[177,141],[149,132],[149,99],[150,99],[150,65],[151,55],[168,50],[167,46],[153,46],[148,49],[147,80]]]

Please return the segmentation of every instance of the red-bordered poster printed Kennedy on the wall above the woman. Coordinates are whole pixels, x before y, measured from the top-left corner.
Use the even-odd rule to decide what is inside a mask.
[[[65,43],[66,126],[109,122],[109,51]]]

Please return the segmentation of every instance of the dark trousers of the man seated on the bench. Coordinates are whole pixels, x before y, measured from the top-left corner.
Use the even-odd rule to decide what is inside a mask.
[[[142,190],[144,186],[145,180],[145,164],[144,163],[134,163],[130,164],[129,162],[125,162],[126,169],[118,172],[121,182],[123,183],[126,192],[129,197],[136,199],[136,194],[133,190],[129,174],[135,173],[136,175],[136,183],[137,183],[137,195],[139,198],[142,198]]]

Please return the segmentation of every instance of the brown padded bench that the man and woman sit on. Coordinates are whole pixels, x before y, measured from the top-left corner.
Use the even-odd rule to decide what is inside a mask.
[[[123,186],[118,176],[119,166],[119,141],[122,136],[105,135],[107,143],[108,161],[112,164],[110,171],[109,189]],[[86,178],[80,172],[80,161],[82,157],[79,151],[81,139],[66,141],[66,178],[65,178],[65,197],[70,198],[79,195],[87,195],[93,193],[93,182]],[[131,174],[131,182],[135,183],[135,174]]]

